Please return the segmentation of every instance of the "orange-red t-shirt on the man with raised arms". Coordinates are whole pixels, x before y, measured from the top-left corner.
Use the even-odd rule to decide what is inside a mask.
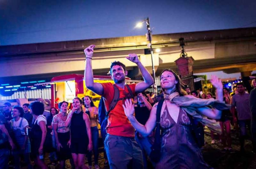
[[[109,104],[111,103],[114,97],[114,87],[111,83],[102,83],[103,86],[103,97],[105,100],[105,105],[108,110]],[[130,84],[129,87],[132,90],[133,96],[135,96],[135,85]],[[117,86],[117,85],[116,85]],[[117,86],[118,87],[118,86]],[[125,94],[128,94],[129,91],[125,86],[124,89],[118,87],[119,89],[119,98],[125,97]],[[124,137],[134,137],[134,128],[132,127],[131,122],[128,120],[124,114],[123,101],[119,100],[116,103],[116,106],[108,114],[108,125],[107,133],[115,136],[124,136]]]

